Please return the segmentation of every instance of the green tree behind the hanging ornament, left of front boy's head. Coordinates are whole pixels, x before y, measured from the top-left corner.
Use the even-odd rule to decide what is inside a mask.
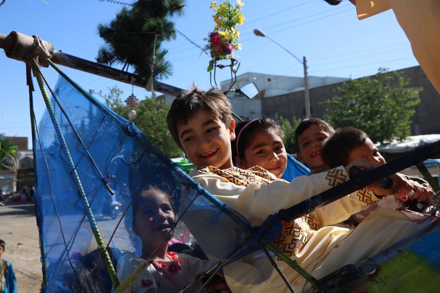
[[[128,119],[130,108],[120,98],[122,91],[116,86],[109,89],[109,91],[109,94],[104,96],[105,104],[120,116]],[[167,157],[175,158],[179,157],[181,152],[166,125],[166,115],[169,108],[170,104],[165,103],[163,100],[146,97],[135,109],[137,116],[133,119],[133,122],[156,148],[161,150]]]

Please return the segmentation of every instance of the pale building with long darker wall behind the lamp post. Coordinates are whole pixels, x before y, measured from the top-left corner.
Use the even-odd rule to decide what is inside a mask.
[[[420,104],[415,107],[416,113],[412,117],[411,134],[440,133],[440,119],[436,119],[440,113],[440,94],[424,74],[420,66],[409,67],[399,70],[402,77],[410,79],[410,87],[423,88],[420,93]],[[331,99],[334,89],[340,87],[346,78],[336,77],[308,77],[310,114],[312,117],[323,118],[328,105],[322,102]],[[293,116],[305,118],[304,102],[304,79],[286,76],[274,76],[246,72],[237,76],[233,89],[240,88],[250,82],[254,82],[260,93],[253,99],[233,91],[228,93],[234,112],[242,119],[255,119],[263,116],[279,118],[280,116],[291,120]],[[222,89],[227,89],[230,80],[220,83]],[[158,98],[171,103],[172,96],[162,95]],[[429,118],[431,117],[431,118]]]

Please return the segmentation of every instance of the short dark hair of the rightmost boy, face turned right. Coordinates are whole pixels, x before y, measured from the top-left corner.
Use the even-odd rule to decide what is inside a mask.
[[[337,129],[321,150],[321,158],[330,168],[347,166],[348,157],[354,149],[365,143],[368,138],[365,132],[354,127]]]

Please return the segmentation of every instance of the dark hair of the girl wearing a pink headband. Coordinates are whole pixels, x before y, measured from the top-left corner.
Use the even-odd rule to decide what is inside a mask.
[[[255,120],[240,121],[235,125],[235,139],[231,141],[232,162],[235,157],[244,158],[244,151],[249,148],[255,132],[273,130],[284,141],[284,132],[277,120],[265,117]],[[238,143],[238,145],[237,145]]]

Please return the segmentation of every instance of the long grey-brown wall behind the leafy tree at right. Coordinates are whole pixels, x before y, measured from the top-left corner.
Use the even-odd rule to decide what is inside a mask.
[[[440,94],[438,94],[420,66],[405,68],[402,77],[411,79],[410,87],[423,88],[419,94],[420,104],[415,107],[411,124],[411,134],[440,133]],[[320,103],[331,99],[335,93],[333,90],[343,83],[327,85],[309,90],[311,116],[323,118],[328,105]],[[305,118],[304,92],[288,93],[262,99],[262,116],[277,118],[283,116],[291,120],[293,116]]]

